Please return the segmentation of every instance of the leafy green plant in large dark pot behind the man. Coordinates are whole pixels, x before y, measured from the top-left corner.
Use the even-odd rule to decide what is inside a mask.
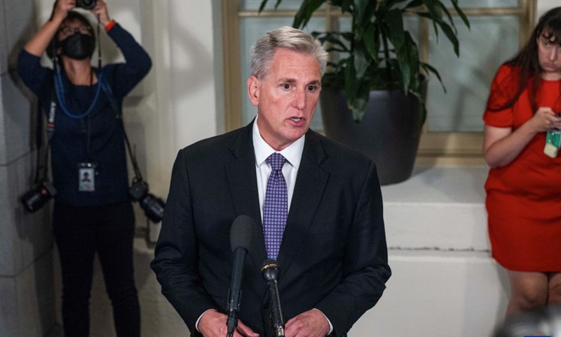
[[[268,1],[262,1],[259,11]],[[458,0],[448,1],[469,27]],[[280,2],[276,0],[275,8]],[[436,36],[444,33],[459,56],[452,15],[440,0],[304,0],[292,26],[306,26],[325,3],[350,14],[352,20],[351,32],[312,33],[332,55],[320,100],[325,133],[370,155],[382,184],[406,180],[426,117],[426,79],[431,74],[440,84],[442,79],[435,67],[421,62],[404,17],[430,20]]]

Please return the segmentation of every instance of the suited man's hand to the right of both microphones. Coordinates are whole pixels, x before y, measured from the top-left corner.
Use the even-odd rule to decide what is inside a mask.
[[[286,337],[325,337],[329,322],[320,310],[308,310],[289,319],[285,324]]]

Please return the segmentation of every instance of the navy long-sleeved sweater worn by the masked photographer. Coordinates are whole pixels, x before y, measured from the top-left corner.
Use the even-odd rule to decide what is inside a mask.
[[[120,108],[123,97],[150,70],[151,60],[142,46],[119,24],[109,29],[107,34],[121,49],[126,60],[126,63],[106,65],[101,70],[103,82],[111,87]],[[40,60],[41,58],[22,51],[18,57],[18,74],[39,97],[43,111],[48,114],[54,93],[54,73],[52,69],[42,67]],[[93,102],[98,84],[75,86],[70,83],[62,65],[60,68],[65,105],[71,113],[83,114]],[[94,68],[94,71],[99,78],[100,70]],[[67,116],[61,110],[58,100],[55,102],[55,133],[50,141],[53,183],[58,192],[55,199],[68,206],[102,206],[128,200],[129,181],[123,128],[121,121],[116,118],[116,112],[111,108],[107,93],[100,91],[93,110],[88,117],[81,119]],[[88,137],[85,131],[88,122],[90,158],[86,151]],[[79,192],[79,163],[86,161],[98,164],[95,192]]]

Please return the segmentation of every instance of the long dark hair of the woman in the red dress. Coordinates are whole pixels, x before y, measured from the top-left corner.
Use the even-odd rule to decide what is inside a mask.
[[[504,65],[515,68],[515,71],[504,79],[504,81],[506,81],[505,83],[510,82],[518,84],[518,88],[506,96],[507,101],[503,105],[497,105],[497,103],[494,103],[496,100],[489,96],[487,110],[500,111],[512,107],[518,98],[520,98],[522,92],[528,88],[528,96],[532,105],[532,110],[536,112],[538,109],[536,93],[539,88],[541,73],[543,72],[539,65],[538,45],[536,41],[541,36],[561,46],[561,7],[555,7],[541,15],[538,24],[534,28],[534,31],[532,31],[532,35],[529,37],[524,48],[522,48],[514,58],[503,63]],[[504,94],[505,93],[499,93],[499,95]],[[494,103],[494,105],[491,105],[491,103]]]

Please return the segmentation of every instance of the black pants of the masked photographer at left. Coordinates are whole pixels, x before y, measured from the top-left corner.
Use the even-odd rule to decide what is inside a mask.
[[[95,253],[99,256],[117,336],[140,336],[140,306],[133,271],[133,206],[70,207],[55,203],[53,230],[62,270],[66,337],[87,337]]]

